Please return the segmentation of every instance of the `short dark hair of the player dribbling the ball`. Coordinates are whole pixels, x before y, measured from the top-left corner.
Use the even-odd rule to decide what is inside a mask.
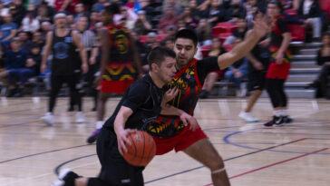
[[[177,55],[174,53],[174,51],[168,47],[157,46],[157,47],[153,48],[147,57],[150,70],[151,70],[151,64],[157,64],[160,66],[160,64],[163,61],[165,61],[165,57],[175,58],[176,56]]]

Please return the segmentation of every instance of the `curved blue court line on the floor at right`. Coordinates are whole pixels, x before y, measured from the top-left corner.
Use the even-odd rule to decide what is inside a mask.
[[[257,147],[250,147],[250,146],[242,145],[242,144],[239,144],[239,143],[236,143],[236,142],[230,142],[228,140],[231,136],[234,136],[234,135],[237,135],[237,134],[240,134],[240,133],[243,133],[243,132],[256,131],[256,130],[260,130],[260,129],[265,129],[265,128],[257,128],[257,129],[250,129],[250,130],[246,130],[246,131],[232,132],[232,133],[229,133],[228,135],[226,135],[223,138],[223,141],[227,144],[230,144],[230,145],[233,145],[233,146],[236,146],[236,147],[240,147],[240,148],[244,148],[244,149],[260,150],[260,148],[257,148]],[[272,134],[277,134],[277,132],[274,132]],[[313,139],[313,138],[306,138],[306,139]],[[277,151],[277,150],[271,150],[271,149],[267,150],[267,151],[269,151],[269,152],[298,153],[298,154],[308,153],[308,152],[293,152],[293,151]],[[330,154],[330,153],[320,152],[320,153],[317,153],[317,154]]]

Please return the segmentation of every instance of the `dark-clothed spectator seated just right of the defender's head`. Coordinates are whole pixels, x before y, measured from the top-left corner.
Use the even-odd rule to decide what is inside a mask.
[[[199,43],[201,45],[209,45],[211,43],[212,30],[207,19],[200,19],[199,25],[196,28],[196,34],[199,37]]]

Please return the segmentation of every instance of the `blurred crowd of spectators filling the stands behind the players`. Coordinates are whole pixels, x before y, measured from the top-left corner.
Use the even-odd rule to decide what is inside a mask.
[[[327,28],[329,6],[325,0],[281,0],[289,24],[298,24],[306,30],[304,41],[320,41]],[[22,96],[27,79],[39,73],[45,35],[53,29],[53,15],[63,12],[71,29],[88,30],[93,34],[86,41],[96,41],[102,28],[101,12],[106,5],[121,5],[116,24],[125,25],[135,39],[144,71],[148,71],[145,57],[158,45],[173,47],[176,31],[190,28],[199,36],[199,48],[219,42],[217,50],[230,50],[244,39],[252,27],[257,11],[266,12],[267,0],[2,0],[0,1],[0,78],[8,89],[8,96]],[[323,7],[324,10],[321,9]],[[86,29],[79,29],[79,17],[86,17]],[[228,23],[228,33],[217,33],[219,24]],[[214,38],[218,38],[214,39]],[[88,42],[86,42],[88,43]],[[89,43],[91,44],[91,43]],[[83,44],[85,47],[88,44]],[[92,49],[90,48],[89,51]],[[205,56],[200,50],[196,57]],[[92,52],[92,51],[91,51]],[[100,61],[100,51],[93,54],[91,63]],[[213,53],[213,52],[212,52]],[[209,54],[212,54],[209,53]],[[218,53],[218,52],[217,52]],[[49,60],[51,63],[51,59]],[[238,64],[245,66],[245,59]],[[234,64],[227,73],[217,73],[233,81],[240,92],[241,78],[235,79],[240,65]],[[245,70],[242,78],[246,75]],[[234,73],[234,74],[233,74]],[[215,76],[218,78],[219,75]],[[207,88],[209,91],[209,87]],[[18,90],[18,91],[17,91]],[[205,90],[205,89],[204,89]]]

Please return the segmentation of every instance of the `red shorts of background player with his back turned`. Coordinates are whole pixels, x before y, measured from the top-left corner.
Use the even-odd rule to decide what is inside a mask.
[[[101,81],[102,93],[124,93],[135,80]]]

